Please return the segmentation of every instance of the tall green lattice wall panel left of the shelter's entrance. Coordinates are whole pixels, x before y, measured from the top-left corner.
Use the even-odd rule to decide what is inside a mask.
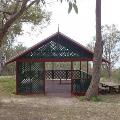
[[[19,63],[19,93],[44,92],[44,64]]]

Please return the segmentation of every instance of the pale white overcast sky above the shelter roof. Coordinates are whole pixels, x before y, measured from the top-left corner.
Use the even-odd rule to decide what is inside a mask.
[[[44,38],[58,31],[86,46],[95,36],[95,1],[77,0],[78,14],[74,10],[68,14],[68,4],[47,0],[46,10],[52,12],[50,24],[40,32],[32,31],[31,26],[24,25],[24,34],[18,36],[17,42],[31,47]],[[120,30],[120,0],[102,0],[102,25],[115,24]],[[31,34],[32,33],[32,34]],[[120,61],[117,63],[120,66]]]

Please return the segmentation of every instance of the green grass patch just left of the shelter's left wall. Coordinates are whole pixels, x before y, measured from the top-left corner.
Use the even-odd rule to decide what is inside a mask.
[[[12,95],[15,93],[15,76],[0,76],[0,93]]]

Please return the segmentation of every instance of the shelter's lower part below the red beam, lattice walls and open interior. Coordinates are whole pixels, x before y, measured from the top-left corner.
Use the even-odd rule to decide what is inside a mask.
[[[67,96],[71,93],[84,94],[91,75],[88,74],[88,65],[86,72],[81,70],[81,66],[81,62],[24,63],[20,68],[18,92]]]

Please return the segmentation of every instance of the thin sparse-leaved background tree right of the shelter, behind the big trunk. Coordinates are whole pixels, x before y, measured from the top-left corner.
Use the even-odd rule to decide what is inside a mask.
[[[110,64],[103,64],[102,68],[108,72],[109,79],[111,80],[111,71],[120,56],[120,31],[117,26],[114,24],[102,26],[102,39],[104,41],[103,57],[110,62]],[[88,48],[93,50],[94,46],[95,39],[88,44]]]

